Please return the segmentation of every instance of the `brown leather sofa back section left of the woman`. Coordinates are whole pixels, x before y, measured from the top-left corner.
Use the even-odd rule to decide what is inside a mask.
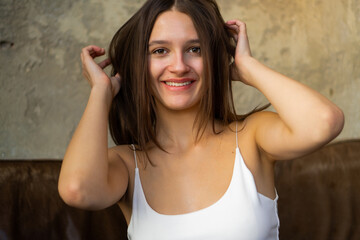
[[[116,205],[102,211],[67,206],[57,190],[61,161],[0,161],[0,239],[127,239]]]

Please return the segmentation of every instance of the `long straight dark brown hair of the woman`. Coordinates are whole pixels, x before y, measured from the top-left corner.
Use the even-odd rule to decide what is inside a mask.
[[[214,0],[148,0],[116,32],[109,47],[112,74],[121,76],[121,88],[109,113],[110,133],[117,145],[136,144],[146,152],[146,144],[153,142],[163,149],[156,140],[156,107],[150,92],[147,54],[157,17],[172,9],[192,19],[200,39],[205,86],[194,122],[197,140],[209,119],[215,132],[215,120],[225,126],[252,113],[237,115],[235,111],[230,71],[235,43],[217,3]]]

